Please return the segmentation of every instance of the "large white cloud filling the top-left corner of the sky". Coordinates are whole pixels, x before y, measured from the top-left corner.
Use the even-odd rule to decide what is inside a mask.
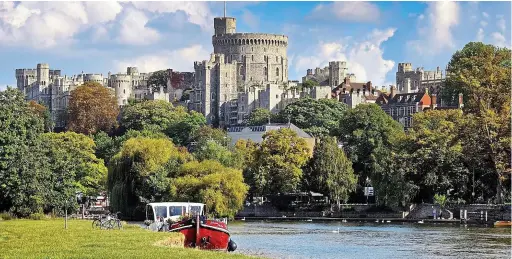
[[[87,26],[115,19],[121,9],[116,2],[2,2],[0,44],[66,45]]]

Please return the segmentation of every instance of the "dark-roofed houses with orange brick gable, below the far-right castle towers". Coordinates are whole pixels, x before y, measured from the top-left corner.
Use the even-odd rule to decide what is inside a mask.
[[[462,94],[459,94],[458,102],[455,105],[439,106],[437,104],[437,95],[429,95],[428,88],[424,92],[419,93],[397,93],[394,86],[390,87],[390,93],[382,93],[376,100],[384,112],[399,122],[405,129],[409,129],[413,125],[413,115],[429,109],[460,109],[462,108]]]

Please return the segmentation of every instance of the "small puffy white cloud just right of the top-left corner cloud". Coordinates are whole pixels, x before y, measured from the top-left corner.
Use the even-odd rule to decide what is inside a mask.
[[[157,30],[147,27],[149,19],[144,12],[128,8],[121,18],[117,41],[129,45],[150,45],[160,39]]]

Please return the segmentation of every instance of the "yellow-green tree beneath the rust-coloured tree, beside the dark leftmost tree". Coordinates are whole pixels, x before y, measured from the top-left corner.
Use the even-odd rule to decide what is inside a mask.
[[[107,168],[96,158],[94,141],[74,132],[42,135],[51,174],[46,186],[45,211],[76,203],[75,192],[85,196],[106,190]]]

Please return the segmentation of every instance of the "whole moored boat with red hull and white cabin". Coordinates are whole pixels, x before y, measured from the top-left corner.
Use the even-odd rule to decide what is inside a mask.
[[[163,230],[168,226],[166,229],[168,231],[183,233],[185,235],[185,247],[235,251],[236,243],[230,239],[226,222],[207,219],[204,215],[204,204],[159,202],[150,203],[148,206],[151,209],[146,210],[146,217],[155,219],[154,222],[158,230]],[[153,212],[153,215],[148,215],[148,211]],[[163,224],[164,222],[173,221],[175,223]]]

